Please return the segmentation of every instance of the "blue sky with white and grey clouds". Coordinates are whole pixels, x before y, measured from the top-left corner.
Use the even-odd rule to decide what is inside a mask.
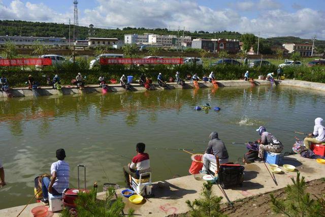
[[[79,25],[185,28],[325,40],[325,0],[79,0]],[[0,20],[73,23],[73,0],[0,0]]]

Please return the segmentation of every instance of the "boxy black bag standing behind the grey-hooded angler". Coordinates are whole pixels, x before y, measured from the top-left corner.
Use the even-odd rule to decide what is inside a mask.
[[[218,172],[218,182],[223,189],[234,185],[243,185],[245,167],[238,164],[221,164]]]

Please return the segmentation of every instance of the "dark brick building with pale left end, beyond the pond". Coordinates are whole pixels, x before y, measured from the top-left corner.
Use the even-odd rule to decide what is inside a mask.
[[[233,39],[193,39],[192,48],[209,50],[218,52],[226,50],[228,53],[239,52],[239,40]]]

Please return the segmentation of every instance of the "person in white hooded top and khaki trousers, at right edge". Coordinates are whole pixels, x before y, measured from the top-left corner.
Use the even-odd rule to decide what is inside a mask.
[[[304,139],[304,143],[307,149],[310,148],[310,143],[321,144],[325,142],[325,128],[322,126],[323,119],[321,117],[317,117],[315,119],[314,132],[308,134],[308,136]],[[313,138],[316,136],[315,138]]]

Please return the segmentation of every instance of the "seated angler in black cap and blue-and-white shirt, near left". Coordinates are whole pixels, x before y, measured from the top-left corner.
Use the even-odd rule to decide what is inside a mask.
[[[64,189],[69,188],[70,166],[64,161],[66,152],[60,148],[56,150],[57,162],[51,165],[51,179],[44,177],[42,179],[43,198],[41,202],[44,205],[49,203],[48,193],[52,195],[61,195]]]

